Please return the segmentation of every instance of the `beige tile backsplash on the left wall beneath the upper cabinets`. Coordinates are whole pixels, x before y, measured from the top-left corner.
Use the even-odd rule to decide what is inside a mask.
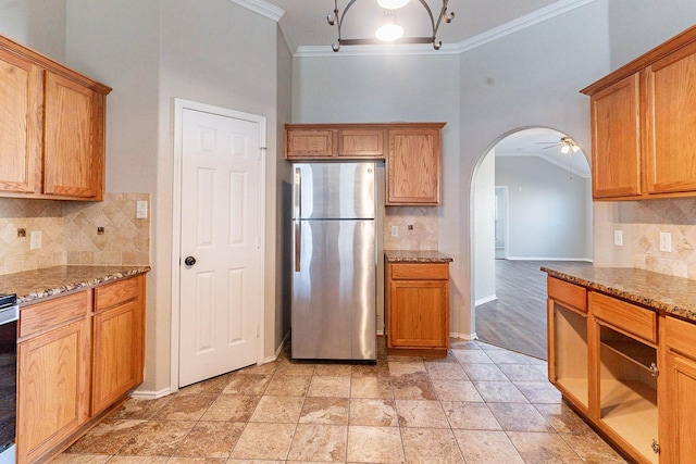
[[[0,274],[63,264],[150,264],[150,214],[135,218],[149,193],[107,193],[101,202],[0,199]],[[103,227],[103,235],[98,234]],[[17,237],[17,229],[26,237]],[[32,233],[41,247],[32,249]]]

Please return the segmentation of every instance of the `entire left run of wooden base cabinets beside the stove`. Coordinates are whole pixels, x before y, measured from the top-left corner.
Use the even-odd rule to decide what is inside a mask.
[[[47,461],[142,381],[145,275],[24,306],[17,463]]]

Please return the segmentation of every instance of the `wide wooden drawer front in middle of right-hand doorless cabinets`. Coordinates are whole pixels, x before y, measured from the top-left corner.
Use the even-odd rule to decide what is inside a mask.
[[[592,314],[617,328],[657,343],[657,313],[605,294],[589,292]]]

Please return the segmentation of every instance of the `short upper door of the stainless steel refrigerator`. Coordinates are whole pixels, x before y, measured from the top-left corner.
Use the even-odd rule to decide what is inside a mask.
[[[293,173],[294,220],[375,217],[374,163],[300,163]]]

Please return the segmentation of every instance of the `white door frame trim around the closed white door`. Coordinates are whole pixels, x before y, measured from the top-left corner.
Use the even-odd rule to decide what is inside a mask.
[[[200,111],[203,113],[220,116],[233,117],[235,120],[248,121],[259,125],[259,158],[261,161],[259,173],[259,187],[261,189],[261,205],[265,205],[265,140],[266,122],[265,116],[243,113],[227,108],[215,106],[181,98],[174,99],[174,154],[172,160],[173,181],[172,181],[172,325],[171,325],[171,366],[170,366],[170,392],[178,391],[178,362],[179,362],[179,327],[181,327],[181,246],[182,246],[182,163],[184,161],[183,149],[183,115],[184,110]],[[265,274],[265,214],[262,212],[259,217],[260,236],[260,272]],[[263,286],[259,288],[259,336],[257,337],[257,364],[262,364],[265,321],[263,317],[265,308],[265,292]]]

